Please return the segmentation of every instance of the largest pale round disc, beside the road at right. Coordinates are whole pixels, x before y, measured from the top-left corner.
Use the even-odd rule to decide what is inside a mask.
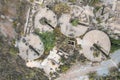
[[[83,37],[83,42],[81,44],[83,49],[83,54],[91,61],[101,61],[103,58],[103,53],[100,51],[99,56],[94,57],[94,44],[97,44],[99,48],[105,52],[106,55],[109,55],[111,43],[109,37],[102,31],[92,30],[88,32]]]

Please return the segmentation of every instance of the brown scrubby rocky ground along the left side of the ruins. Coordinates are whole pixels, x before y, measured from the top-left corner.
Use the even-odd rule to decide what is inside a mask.
[[[29,6],[25,0],[0,0],[0,80],[48,80],[42,70],[27,68],[13,45],[24,31]]]

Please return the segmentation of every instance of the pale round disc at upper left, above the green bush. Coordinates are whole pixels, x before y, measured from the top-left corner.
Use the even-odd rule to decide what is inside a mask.
[[[44,23],[44,20],[48,24]],[[40,8],[34,15],[34,28],[40,32],[53,31],[57,25],[57,16],[48,8]],[[52,27],[51,27],[52,26]]]

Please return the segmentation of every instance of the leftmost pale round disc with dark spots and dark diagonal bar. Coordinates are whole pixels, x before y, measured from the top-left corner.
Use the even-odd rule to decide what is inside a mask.
[[[25,61],[37,59],[44,52],[44,46],[40,38],[32,33],[20,39],[18,48],[19,56]]]

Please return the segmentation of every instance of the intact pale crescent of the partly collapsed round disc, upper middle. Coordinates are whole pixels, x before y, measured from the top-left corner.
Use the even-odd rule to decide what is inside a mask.
[[[69,14],[63,14],[59,19],[61,32],[64,35],[68,37],[78,37],[83,35],[88,30],[88,27],[83,25],[73,26],[70,23],[70,19],[71,19],[71,15]]]

